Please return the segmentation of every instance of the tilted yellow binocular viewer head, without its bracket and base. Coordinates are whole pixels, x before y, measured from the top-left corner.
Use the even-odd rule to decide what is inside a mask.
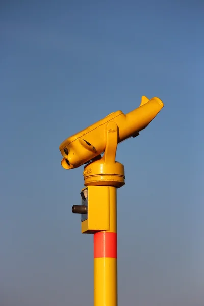
[[[105,151],[107,142],[107,123],[117,124],[118,143],[136,137],[139,132],[157,116],[163,108],[163,102],[154,97],[149,100],[142,96],[140,106],[126,115],[122,111],[109,114],[104,119],[90,125],[83,131],[67,138],[60,145],[63,156],[61,161],[64,169],[77,168],[90,162]]]

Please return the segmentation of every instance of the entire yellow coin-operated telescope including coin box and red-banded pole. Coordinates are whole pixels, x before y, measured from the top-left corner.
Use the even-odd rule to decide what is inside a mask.
[[[138,136],[163,106],[159,98],[143,96],[132,112],[111,113],[60,145],[63,168],[86,164],[81,205],[72,212],[81,214],[82,233],[94,236],[94,306],[117,306],[116,191],[125,184],[124,166],[115,160],[117,145]]]

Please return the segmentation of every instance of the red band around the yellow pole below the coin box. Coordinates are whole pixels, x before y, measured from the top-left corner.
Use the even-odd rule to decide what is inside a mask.
[[[97,232],[94,234],[94,258],[117,258],[117,233]]]

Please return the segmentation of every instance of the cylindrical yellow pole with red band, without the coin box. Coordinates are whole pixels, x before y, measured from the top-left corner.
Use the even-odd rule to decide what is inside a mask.
[[[109,205],[109,231],[94,234],[94,306],[117,306],[117,195],[112,186]]]

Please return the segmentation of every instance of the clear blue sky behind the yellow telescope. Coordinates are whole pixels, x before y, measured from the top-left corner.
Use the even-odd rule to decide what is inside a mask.
[[[118,305],[203,306],[202,1],[2,1],[0,305],[93,304],[83,167],[60,143],[142,95],[165,104],[118,147]]]

